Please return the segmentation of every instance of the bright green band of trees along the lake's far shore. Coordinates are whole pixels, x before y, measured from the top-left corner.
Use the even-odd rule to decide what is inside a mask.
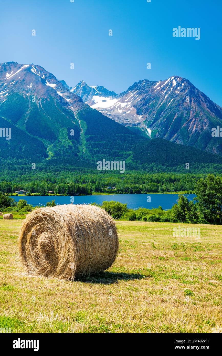
[[[15,193],[19,189],[30,193],[46,195],[53,191],[55,194],[80,195],[92,193],[170,193],[170,192],[194,192],[198,179],[204,177],[199,174],[178,173],[153,173],[131,172],[118,173],[69,173],[57,174],[38,172],[35,175],[20,176],[10,181],[4,177],[0,179],[0,191]]]

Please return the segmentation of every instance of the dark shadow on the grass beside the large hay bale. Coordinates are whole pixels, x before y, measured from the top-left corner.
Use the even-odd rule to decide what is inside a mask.
[[[119,281],[132,281],[133,279],[142,279],[146,276],[139,273],[113,273],[103,272],[99,274],[91,274],[90,276],[77,277],[75,281],[95,284],[116,284]]]

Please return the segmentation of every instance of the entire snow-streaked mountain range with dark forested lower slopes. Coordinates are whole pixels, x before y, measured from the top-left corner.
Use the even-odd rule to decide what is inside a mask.
[[[69,88],[35,64],[0,64],[1,169],[33,162],[96,169],[106,159],[125,161],[126,170],[185,172],[186,162],[220,164],[212,153],[221,153],[221,139],[213,141],[210,129],[221,119],[222,109],[180,77],[116,94],[85,82]]]

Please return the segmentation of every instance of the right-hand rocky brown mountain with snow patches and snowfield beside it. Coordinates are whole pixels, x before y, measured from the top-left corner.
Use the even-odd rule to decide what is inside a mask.
[[[96,104],[88,104],[125,126],[140,127],[151,138],[222,153],[222,139],[211,135],[213,127],[222,127],[222,108],[187,79],[144,79],[119,95],[102,99],[98,94]]]

